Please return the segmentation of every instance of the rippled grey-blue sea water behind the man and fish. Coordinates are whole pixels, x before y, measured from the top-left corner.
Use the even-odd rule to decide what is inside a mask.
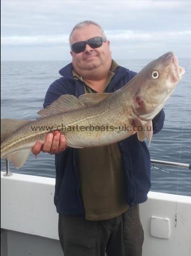
[[[118,60],[118,64],[139,72],[150,60]],[[180,59],[185,75],[164,106],[162,131],[152,137],[152,159],[191,163],[191,60]],[[1,118],[36,119],[43,108],[46,90],[60,77],[68,61],[3,61],[1,63]],[[151,168],[151,191],[191,196],[191,170],[158,166]],[[1,171],[5,159],[1,159]],[[54,155],[29,155],[20,174],[55,177]]]

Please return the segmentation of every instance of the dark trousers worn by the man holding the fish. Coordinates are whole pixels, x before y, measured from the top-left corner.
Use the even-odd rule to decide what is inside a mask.
[[[58,233],[64,256],[142,255],[144,233],[138,205],[103,221],[60,214]]]

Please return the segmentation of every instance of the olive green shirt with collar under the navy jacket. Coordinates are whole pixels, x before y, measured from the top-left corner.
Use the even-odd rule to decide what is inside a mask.
[[[114,76],[117,63],[112,61],[105,88]],[[73,76],[83,81],[73,71]],[[95,93],[84,83],[86,93]],[[87,220],[107,220],[124,213],[128,209],[125,202],[124,175],[122,172],[121,153],[118,144],[108,146],[78,148],[78,172],[80,193]]]

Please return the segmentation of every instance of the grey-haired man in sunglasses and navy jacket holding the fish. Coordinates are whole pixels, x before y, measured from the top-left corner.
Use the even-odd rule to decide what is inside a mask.
[[[62,94],[114,92],[136,73],[112,60],[109,41],[99,24],[78,23],[70,34],[72,64],[50,85],[44,107]],[[163,127],[163,110],[153,119]],[[74,149],[64,135],[49,134],[33,154],[56,154],[54,203],[65,256],[141,256],[143,230],[138,204],[150,189],[150,155],[137,134],[104,147]]]

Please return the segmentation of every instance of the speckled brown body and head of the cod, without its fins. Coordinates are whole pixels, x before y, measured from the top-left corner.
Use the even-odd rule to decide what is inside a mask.
[[[1,158],[11,152],[32,148],[39,139],[45,140],[50,131],[66,127],[67,146],[95,147],[121,141],[134,134],[133,126],[145,126],[163,108],[184,69],[179,67],[173,52],[151,61],[132,80],[105,100],[83,109],[53,114],[29,121],[3,139]],[[156,78],[155,76],[158,77]],[[105,127],[105,131],[79,130],[79,127]],[[51,130],[32,131],[31,127],[52,127]],[[78,127],[71,131],[70,127]],[[107,129],[108,127],[108,129]],[[109,127],[114,127],[109,129]],[[122,127],[128,127],[128,130]]]

